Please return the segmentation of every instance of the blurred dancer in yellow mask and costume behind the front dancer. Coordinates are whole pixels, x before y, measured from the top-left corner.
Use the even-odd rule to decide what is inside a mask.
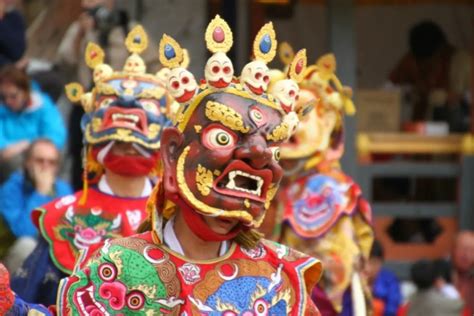
[[[280,46],[284,62],[292,54],[288,44]],[[354,106],[335,67],[334,56],[325,55],[300,83],[299,102],[312,104],[312,110],[281,149],[285,184],[272,206],[277,218],[272,237],[323,262],[313,293],[323,315],[365,316],[370,293],[359,272],[373,242],[372,214],[360,187],[339,166],[343,115],[353,114]]]

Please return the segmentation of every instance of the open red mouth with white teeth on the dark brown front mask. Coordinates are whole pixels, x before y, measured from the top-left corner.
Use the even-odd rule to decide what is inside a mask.
[[[215,180],[214,190],[229,196],[265,202],[272,179],[271,170],[256,170],[243,161],[234,160]]]

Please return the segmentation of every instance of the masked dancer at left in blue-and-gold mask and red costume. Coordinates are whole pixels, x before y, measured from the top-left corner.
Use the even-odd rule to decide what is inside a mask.
[[[78,83],[66,86],[69,99],[80,101],[86,112],[81,120],[85,186],[33,212],[41,238],[12,278],[12,289],[26,301],[54,304],[60,279],[106,239],[135,234],[148,217],[146,201],[160,168],[161,130],[170,124],[172,99],[160,75],[146,73],[138,54],[147,43],[141,26],[130,31],[125,44],[131,54],[121,71],[104,64],[103,50],[89,43],[86,62],[93,69],[95,87],[85,93]],[[139,154],[117,155],[116,143],[129,144]],[[126,177],[148,176],[141,196],[114,195],[107,170]]]

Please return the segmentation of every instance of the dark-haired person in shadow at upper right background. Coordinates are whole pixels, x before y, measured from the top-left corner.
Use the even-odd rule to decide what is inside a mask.
[[[412,88],[412,120],[439,119],[447,121],[451,130],[466,130],[469,54],[451,45],[443,30],[429,20],[410,29],[409,47],[389,79]]]

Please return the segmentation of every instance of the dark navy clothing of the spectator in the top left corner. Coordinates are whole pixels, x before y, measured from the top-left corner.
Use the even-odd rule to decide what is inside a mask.
[[[14,63],[26,49],[25,22],[18,11],[12,11],[0,21],[0,64]]]

